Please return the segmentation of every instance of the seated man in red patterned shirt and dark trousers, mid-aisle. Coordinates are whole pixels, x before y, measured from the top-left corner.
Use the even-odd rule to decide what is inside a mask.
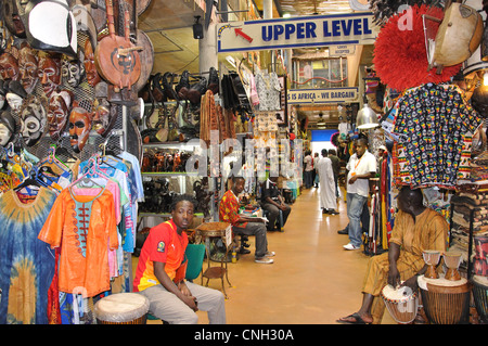
[[[232,188],[228,190],[219,204],[219,220],[232,225],[232,232],[239,235],[255,235],[256,251],[255,261],[257,264],[272,264],[273,252],[268,251],[268,238],[265,221],[261,218],[245,217],[239,215],[239,195],[244,190],[245,179],[232,177]]]

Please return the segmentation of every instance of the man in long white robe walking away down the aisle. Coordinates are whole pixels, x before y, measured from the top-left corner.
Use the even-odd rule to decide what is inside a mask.
[[[332,161],[328,157],[328,150],[322,149],[322,157],[317,163],[317,174],[320,181],[320,207],[323,214],[337,215],[334,171]]]

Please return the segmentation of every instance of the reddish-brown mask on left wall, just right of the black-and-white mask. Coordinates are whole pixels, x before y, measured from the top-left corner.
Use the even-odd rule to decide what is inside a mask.
[[[49,98],[48,126],[49,136],[57,141],[66,128],[73,93],[67,90],[54,91]]]

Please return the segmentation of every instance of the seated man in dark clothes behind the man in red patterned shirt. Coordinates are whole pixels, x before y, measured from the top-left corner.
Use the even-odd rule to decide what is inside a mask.
[[[277,185],[278,177],[269,177],[262,183],[261,192],[261,208],[269,213],[268,215],[268,231],[273,231],[277,220],[280,216],[280,210],[283,215],[283,228],[288,219],[288,215],[292,212],[292,207],[284,203],[284,198],[280,193]]]

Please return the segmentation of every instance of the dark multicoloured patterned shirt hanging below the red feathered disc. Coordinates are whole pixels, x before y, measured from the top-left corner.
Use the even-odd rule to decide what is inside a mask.
[[[453,85],[426,84],[409,89],[395,105],[393,132],[398,136],[396,162],[402,182],[412,187],[453,189],[467,170],[460,169],[471,152],[479,114]],[[406,170],[408,177],[406,177]]]

